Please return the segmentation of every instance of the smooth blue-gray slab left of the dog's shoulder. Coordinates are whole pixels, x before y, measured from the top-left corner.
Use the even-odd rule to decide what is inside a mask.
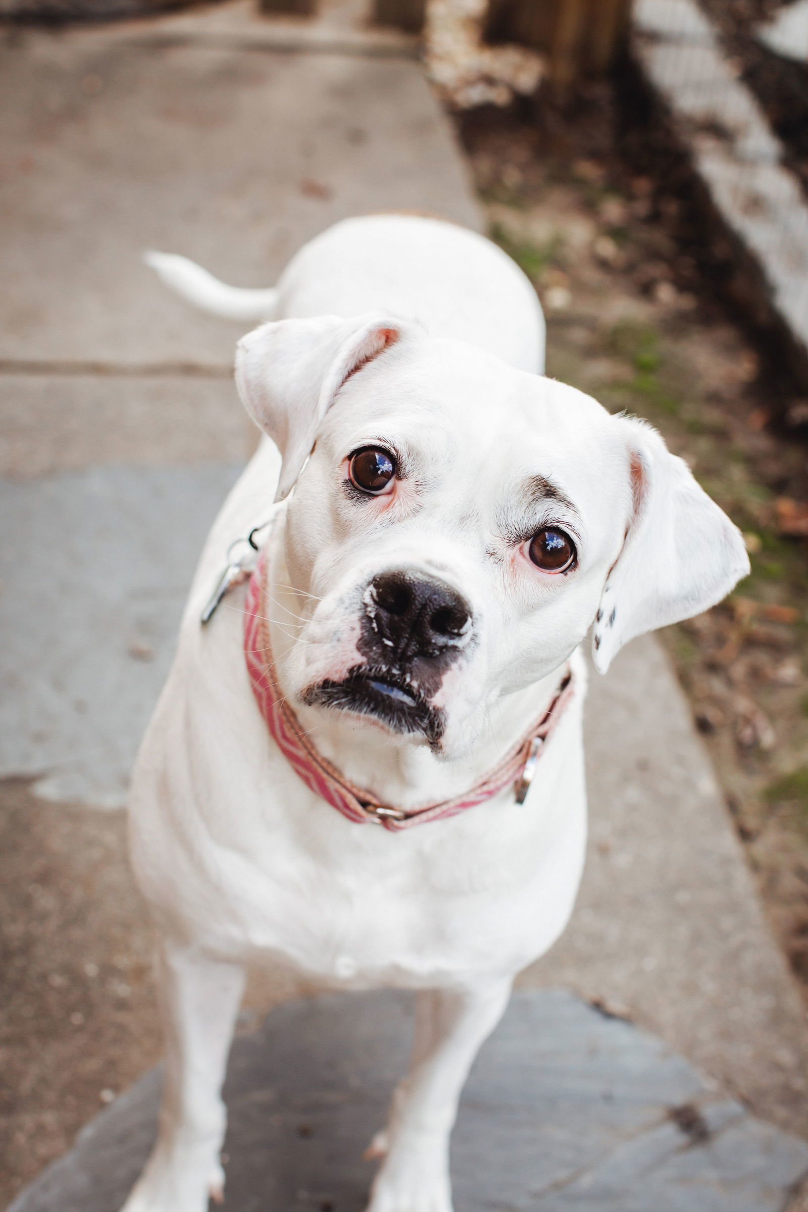
[[[237,465],[0,479],[0,778],[121,807]]]

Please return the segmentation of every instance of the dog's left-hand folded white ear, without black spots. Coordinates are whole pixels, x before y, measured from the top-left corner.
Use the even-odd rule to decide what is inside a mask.
[[[390,316],[327,315],[262,324],[239,342],[239,395],[283,458],[276,501],[292,491],[343,383],[401,335]]]

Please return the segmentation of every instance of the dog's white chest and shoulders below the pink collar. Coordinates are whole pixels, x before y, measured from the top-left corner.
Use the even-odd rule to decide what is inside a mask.
[[[224,616],[219,634],[237,622]],[[239,646],[234,634],[219,659],[178,661],[138,762],[133,858],[168,931],[326,987],[474,979],[554,942],[583,862],[579,704],[525,805],[504,794],[390,834],[303,784],[268,737]]]

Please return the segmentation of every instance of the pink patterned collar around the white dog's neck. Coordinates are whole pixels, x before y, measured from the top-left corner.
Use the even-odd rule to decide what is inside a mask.
[[[399,808],[380,804],[376,796],[349,782],[326,758],[317,753],[299,720],[283,698],[275,678],[265,596],[265,561],[262,558],[250,578],[245,607],[245,657],[256,702],[279,749],[305,785],[332,807],[356,823],[371,822],[397,831],[428,821],[443,821],[472,808],[483,800],[514,787],[515,800],[523,804],[544,745],[574,692],[572,670],[567,668],[558,690],[541,718],[512,745],[493,770],[472,788],[437,804]]]

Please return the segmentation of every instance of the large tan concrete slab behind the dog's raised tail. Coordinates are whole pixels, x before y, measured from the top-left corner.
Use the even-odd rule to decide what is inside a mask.
[[[13,234],[0,241],[0,365],[227,365],[243,326],[173,298],[144,248],[267,286],[345,216],[422,208],[481,222],[409,59],[141,45],[115,30],[2,42],[15,171],[0,182]]]

